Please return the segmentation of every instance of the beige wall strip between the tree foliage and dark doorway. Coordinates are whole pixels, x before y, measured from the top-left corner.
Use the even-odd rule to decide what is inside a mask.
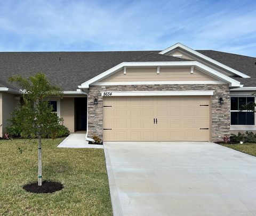
[[[75,102],[74,97],[64,97],[60,100],[60,117],[70,132],[75,132]]]

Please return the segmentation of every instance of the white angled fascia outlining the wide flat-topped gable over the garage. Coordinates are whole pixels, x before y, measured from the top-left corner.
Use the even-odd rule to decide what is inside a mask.
[[[122,69],[123,67],[191,67],[196,66],[199,69],[203,69],[206,73],[211,74],[211,76],[217,77],[223,81],[226,81],[229,83],[230,87],[240,87],[240,82],[237,80],[234,80],[212,68],[207,67],[206,65],[199,63],[197,61],[178,61],[178,62],[123,62],[118,65],[116,65],[113,68],[110,68],[109,70],[99,74],[96,77],[93,77],[92,79],[84,82],[81,84],[81,86],[78,86],[79,88],[89,88],[90,84],[93,84],[103,78],[106,78],[107,76],[110,76],[111,74],[115,73],[116,71]]]

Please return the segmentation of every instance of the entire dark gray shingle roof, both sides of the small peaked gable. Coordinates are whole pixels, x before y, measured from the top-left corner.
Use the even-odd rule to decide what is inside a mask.
[[[116,51],[116,52],[2,52],[0,53],[0,87],[17,88],[7,82],[14,74],[34,76],[44,72],[53,85],[63,90],[76,90],[98,74],[122,62],[189,61],[158,54],[160,51]],[[198,51],[252,78],[235,78],[245,86],[256,86],[255,57]]]

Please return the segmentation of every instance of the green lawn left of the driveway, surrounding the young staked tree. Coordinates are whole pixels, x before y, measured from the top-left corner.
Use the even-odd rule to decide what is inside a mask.
[[[22,188],[37,181],[36,140],[0,140],[0,215],[112,215],[103,149],[57,148],[62,140],[42,144],[43,180],[64,185],[53,194]]]

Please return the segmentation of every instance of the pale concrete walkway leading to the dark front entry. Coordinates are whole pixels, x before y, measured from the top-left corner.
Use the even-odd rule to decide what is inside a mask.
[[[85,134],[70,134],[59,145],[59,148],[103,148],[103,145],[88,144],[85,140]]]

